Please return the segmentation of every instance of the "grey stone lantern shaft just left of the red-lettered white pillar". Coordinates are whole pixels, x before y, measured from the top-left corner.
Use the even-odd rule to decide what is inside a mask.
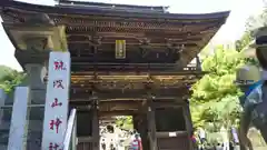
[[[46,101],[46,84],[41,79],[43,64],[28,63],[24,68],[27,71],[27,78],[23,84],[28,84],[30,88],[27,150],[37,150],[41,149]]]

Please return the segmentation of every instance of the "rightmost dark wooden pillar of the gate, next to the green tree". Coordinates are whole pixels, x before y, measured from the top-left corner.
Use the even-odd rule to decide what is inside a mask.
[[[184,112],[184,118],[186,121],[188,139],[190,139],[190,136],[192,133],[192,122],[191,122],[191,113],[190,113],[190,109],[189,109],[189,103],[182,106],[182,112]],[[189,147],[190,147],[190,150],[194,149],[192,141],[189,141]]]

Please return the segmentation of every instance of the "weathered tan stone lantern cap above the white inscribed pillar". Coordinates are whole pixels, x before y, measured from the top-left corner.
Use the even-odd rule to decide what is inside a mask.
[[[67,51],[67,39],[63,26],[37,26],[3,23],[9,38],[19,50]]]

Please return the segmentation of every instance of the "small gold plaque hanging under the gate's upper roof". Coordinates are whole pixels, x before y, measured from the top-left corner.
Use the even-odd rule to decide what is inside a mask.
[[[116,59],[126,58],[126,40],[116,40],[115,58]]]

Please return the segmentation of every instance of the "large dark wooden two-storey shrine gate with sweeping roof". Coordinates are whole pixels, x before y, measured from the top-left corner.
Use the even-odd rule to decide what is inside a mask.
[[[48,53],[71,53],[69,103],[78,109],[79,150],[99,149],[100,118],[126,114],[134,117],[145,150],[191,150],[189,88],[204,72],[198,59],[188,64],[229,12],[176,14],[167,7],[1,0],[0,14],[39,103],[42,92],[34,84],[43,84],[39,80]],[[43,108],[31,110],[39,121],[42,113]]]

